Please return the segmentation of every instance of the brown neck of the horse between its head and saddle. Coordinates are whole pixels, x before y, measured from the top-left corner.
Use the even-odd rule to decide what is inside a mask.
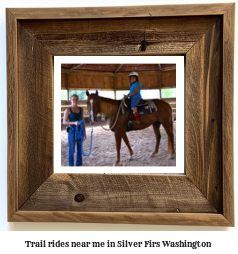
[[[98,96],[100,111],[106,118],[112,119],[118,112],[121,100],[113,100],[105,97]]]

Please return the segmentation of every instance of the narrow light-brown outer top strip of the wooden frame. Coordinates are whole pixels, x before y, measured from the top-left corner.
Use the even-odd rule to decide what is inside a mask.
[[[232,4],[151,5],[85,8],[10,8],[18,19],[102,19],[127,17],[173,17],[222,15]]]

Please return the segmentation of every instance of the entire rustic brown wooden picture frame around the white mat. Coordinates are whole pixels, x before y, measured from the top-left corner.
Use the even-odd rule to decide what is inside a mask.
[[[7,9],[8,220],[234,226],[234,12]],[[53,56],[105,54],[186,56],[186,175],[53,173]]]

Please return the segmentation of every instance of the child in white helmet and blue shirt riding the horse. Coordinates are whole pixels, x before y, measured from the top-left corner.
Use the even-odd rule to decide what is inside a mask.
[[[141,100],[141,85],[139,83],[139,75],[137,72],[133,71],[129,74],[129,79],[130,79],[130,92],[126,97],[131,98],[131,109],[133,111],[133,115],[135,117],[135,123],[140,123],[140,116],[137,110],[136,105],[140,102]]]

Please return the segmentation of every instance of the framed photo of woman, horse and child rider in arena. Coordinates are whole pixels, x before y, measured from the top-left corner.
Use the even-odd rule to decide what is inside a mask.
[[[171,173],[177,162],[177,67],[176,61],[62,62],[61,168]]]

